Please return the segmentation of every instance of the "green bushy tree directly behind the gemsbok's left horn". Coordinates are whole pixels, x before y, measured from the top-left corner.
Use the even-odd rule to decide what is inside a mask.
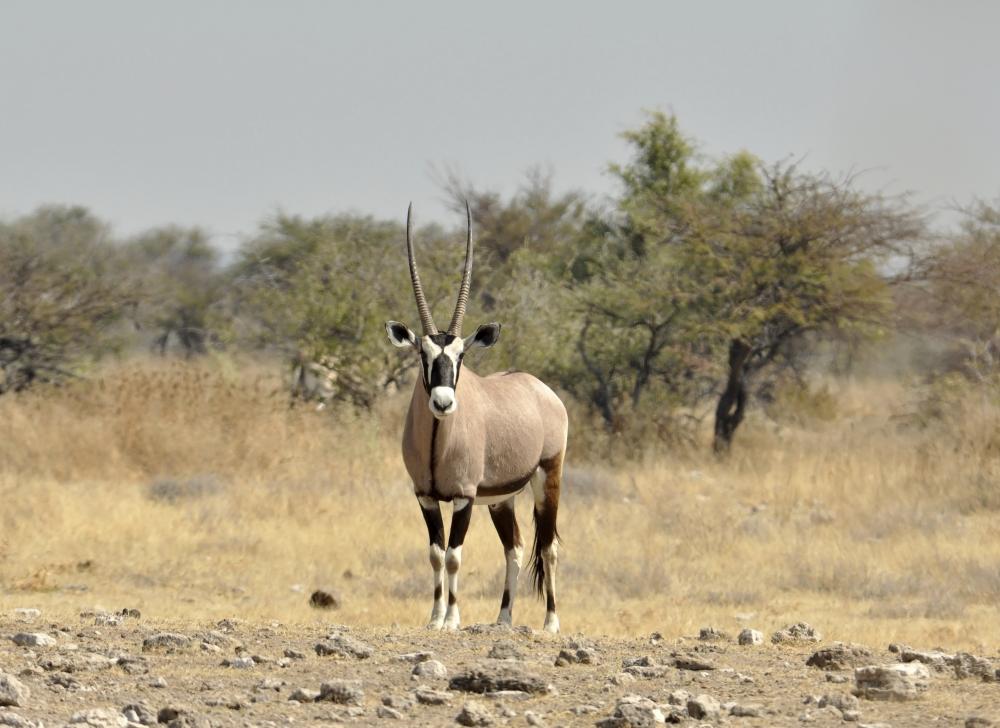
[[[428,226],[415,238],[428,301],[453,306],[464,252],[457,234]],[[290,360],[327,361],[334,397],[371,407],[413,364],[386,345],[383,327],[415,310],[404,240],[401,224],[371,217],[279,216],[234,265],[231,336]]]

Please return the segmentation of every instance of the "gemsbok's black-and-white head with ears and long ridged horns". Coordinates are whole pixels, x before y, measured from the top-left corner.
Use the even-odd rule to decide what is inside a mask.
[[[405,324],[398,321],[386,321],[385,330],[389,341],[400,348],[411,347],[420,353],[420,374],[424,389],[428,395],[428,407],[437,417],[447,417],[458,409],[455,397],[455,387],[462,369],[462,357],[465,352],[476,347],[493,346],[500,338],[500,324],[484,324],[476,329],[476,333],[462,338],[462,319],[465,318],[465,306],[469,302],[469,285],[472,283],[472,213],[469,203],[465,203],[466,224],[468,236],[465,243],[465,271],[462,274],[462,285],[458,289],[458,302],[447,333],[440,333],[434,325],[430,307],[424,297],[424,289],[420,285],[417,274],[417,261],[413,257],[411,204],[406,211],[406,253],[410,261],[410,281],[413,283],[413,295],[417,299],[417,311],[424,334],[417,337]]]

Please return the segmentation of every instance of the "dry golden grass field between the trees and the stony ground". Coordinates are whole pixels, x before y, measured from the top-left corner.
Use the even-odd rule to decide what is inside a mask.
[[[142,361],[0,399],[0,609],[422,623],[425,532],[397,445],[406,395],[360,418],[289,410],[269,371]],[[1000,408],[966,398],[908,427],[892,417],[907,408],[900,385],[831,386],[835,420],[752,419],[726,462],[661,453],[611,469],[576,453],[564,629],[804,619],[831,638],[993,652]],[[466,623],[495,617],[499,597],[485,516],[465,549]],[[339,612],[307,606],[323,585]],[[515,619],[540,626],[541,606],[522,598]]]

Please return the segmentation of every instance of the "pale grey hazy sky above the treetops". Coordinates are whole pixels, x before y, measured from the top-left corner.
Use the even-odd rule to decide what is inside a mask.
[[[453,220],[433,167],[614,191],[643,109],[945,207],[1000,196],[1000,3],[0,3],[0,216],[230,247],[278,209]]]

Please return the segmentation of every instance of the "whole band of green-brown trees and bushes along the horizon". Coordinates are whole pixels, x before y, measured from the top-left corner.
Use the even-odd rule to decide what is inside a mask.
[[[958,229],[931,235],[906,199],[850,176],[708,158],[671,116],[625,138],[610,201],[556,192],[542,174],[509,198],[444,182],[461,225],[418,227],[417,257],[447,318],[467,199],[467,318],[504,325],[479,368],[531,371],[628,437],[682,437],[714,407],[719,449],[750,398],[801,382],[820,347],[843,363],[892,334],[945,335],[950,366],[995,385],[1000,208],[975,201]],[[416,323],[404,212],[279,215],[226,264],[198,229],[117,239],[78,207],[0,223],[0,391],[137,348],[271,351],[325,358],[335,397],[369,408],[415,365],[382,326]]]

